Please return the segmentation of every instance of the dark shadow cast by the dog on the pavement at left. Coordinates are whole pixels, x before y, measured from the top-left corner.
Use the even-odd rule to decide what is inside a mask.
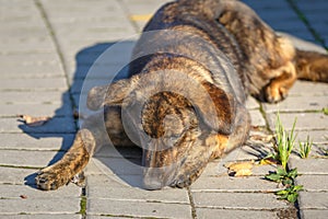
[[[54,117],[43,126],[31,127],[23,123],[19,125],[25,134],[33,138],[61,138],[62,142],[57,153],[47,165],[59,161],[71,147],[80,122],[74,118],[74,112],[79,116],[87,117],[94,113],[86,108],[86,95],[95,85],[108,84],[113,81],[127,78],[130,55],[134,41],[101,43],[81,49],[75,55],[75,70],[69,74],[70,89],[62,93],[62,104],[56,110]],[[75,115],[77,116],[77,115]],[[40,150],[43,150],[40,148]],[[46,149],[47,150],[47,149]],[[118,176],[125,183],[141,187],[141,150],[115,148],[106,146],[95,154],[95,162],[101,171],[108,175]],[[133,168],[131,168],[133,166]],[[108,170],[105,170],[108,169]],[[36,188],[36,173],[25,176],[25,185]],[[137,177],[133,177],[137,176]],[[132,176],[132,177],[131,177]]]

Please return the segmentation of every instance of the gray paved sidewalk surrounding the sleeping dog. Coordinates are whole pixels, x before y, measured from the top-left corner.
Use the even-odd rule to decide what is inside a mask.
[[[248,177],[227,175],[225,163],[258,160],[269,150],[254,145],[210,163],[189,189],[139,188],[139,154],[131,150],[127,160],[113,148],[92,159],[85,189],[35,188],[35,172],[70,147],[78,129],[73,111],[83,108],[87,89],[128,64],[136,34],[164,2],[0,0],[0,218],[328,218],[328,116],[321,111],[328,84],[305,81],[277,105],[248,100],[254,127],[272,130],[280,111],[289,129],[297,117],[300,140],[314,139],[311,158],[293,154],[289,164],[302,173],[296,183],[305,188],[296,205],[278,200],[277,185],[263,180],[274,166],[255,166]],[[327,0],[245,2],[274,30],[328,46]],[[33,128],[19,114],[54,118]]]

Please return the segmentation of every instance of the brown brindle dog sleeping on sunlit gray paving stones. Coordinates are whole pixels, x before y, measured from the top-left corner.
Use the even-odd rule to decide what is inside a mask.
[[[188,186],[210,160],[246,141],[248,94],[279,102],[297,78],[327,82],[328,56],[296,49],[244,3],[167,3],[144,27],[130,77],[90,91],[89,107],[104,114],[85,122],[36,184],[67,184],[109,137],[117,146],[142,147],[145,188]]]

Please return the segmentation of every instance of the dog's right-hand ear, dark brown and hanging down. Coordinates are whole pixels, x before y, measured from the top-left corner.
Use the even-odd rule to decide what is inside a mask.
[[[206,125],[221,134],[231,134],[235,117],[235,102],[232,96],[210,82],[202,82],[210,100],[199,100],[195,103]],[[210,105],[214,106],[209,107]],[[214,113],[214,115],[213,115]]]

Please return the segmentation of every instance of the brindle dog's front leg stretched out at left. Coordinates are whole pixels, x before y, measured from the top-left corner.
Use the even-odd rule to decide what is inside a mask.
[[[71,180],[78,185],[81,184],[81,172],[96,148],[108,143],[116,146],[132,145],[128,138],[122,136],[125,135],[119,107],[108,107],[105,113],[90,116],[63,158],[39,171],[35,178],[37,187],[45,191],[57,189],[71,182]]]

